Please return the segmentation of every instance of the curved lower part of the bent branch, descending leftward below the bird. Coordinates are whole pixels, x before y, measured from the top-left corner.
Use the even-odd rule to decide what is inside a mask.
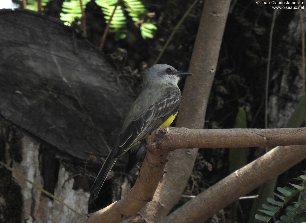
[[[148,145],[140,174],[128,195],[124,199],[90,214],[87,221],[87,217],[85,217],[79,222],[122,222],[137,214],[146,203],[152,200],[169,158],[169,152],[156,148],[155,144]]]

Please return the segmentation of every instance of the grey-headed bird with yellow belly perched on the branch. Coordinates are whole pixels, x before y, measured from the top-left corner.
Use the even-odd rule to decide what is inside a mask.
[[[91,187],[90,203],[98,197],[119,156],[129,151],[129,166],[136,165],[146,151],[146,137],[159,127],[170,126],[181,105],[177,84],[181,77],[189,75],[192,73],[177,71],[167,64],[155,64],[145,73],[142,91],[129,109],[118,138]]]

